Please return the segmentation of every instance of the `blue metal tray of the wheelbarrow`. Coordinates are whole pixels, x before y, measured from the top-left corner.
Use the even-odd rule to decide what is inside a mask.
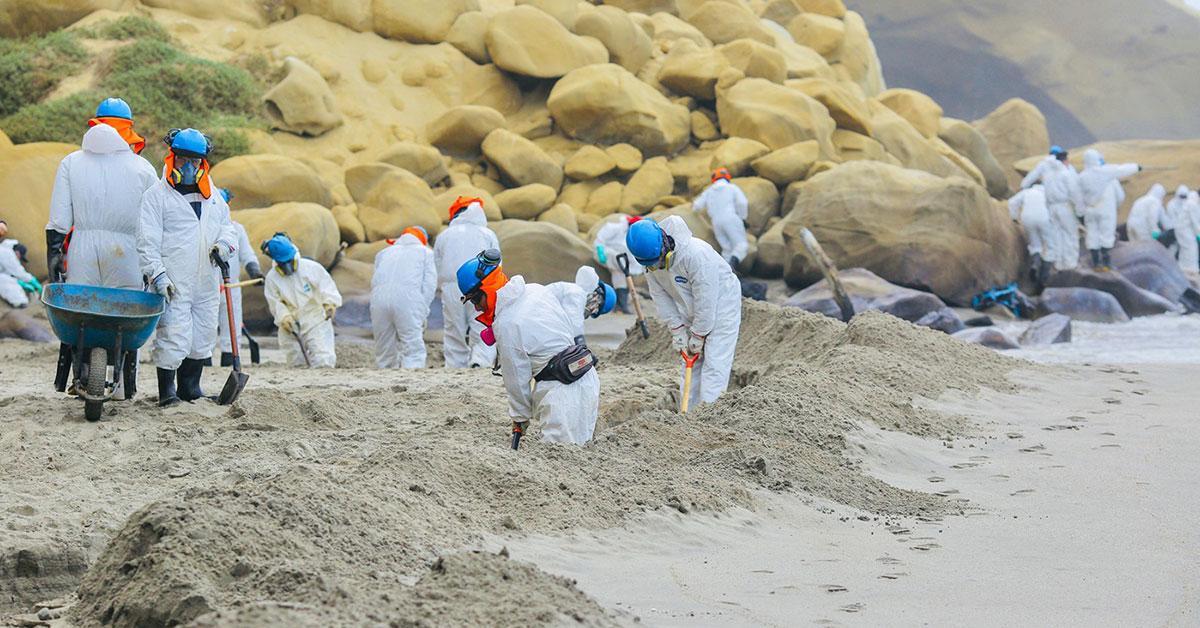
[[[158,294],[78,283],[49,283],[42,304],[50,328],[66,345],[116,352],[134,351],[154,334],[166,301]],[[118,342],[120,346],[118,347]]]

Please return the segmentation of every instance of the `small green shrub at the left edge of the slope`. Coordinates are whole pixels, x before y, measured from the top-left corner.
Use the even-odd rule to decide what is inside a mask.
[[[0,38],[0,116],[40,102],[60,80],[78,71],[86,58],[88,52],[68,31]]]

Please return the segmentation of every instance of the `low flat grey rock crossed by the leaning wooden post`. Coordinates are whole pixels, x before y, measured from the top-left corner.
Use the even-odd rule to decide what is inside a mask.
[[[896,318],[917,322],[925,315],[946,307],[946,304],[934,294],[896,286],[864,268],[850,268],[838,275],[846,295],[854,305],[856,313],[878,310]],[[797,292],[784,305],[830,318],[841,318],[841,310],[824,280]]]

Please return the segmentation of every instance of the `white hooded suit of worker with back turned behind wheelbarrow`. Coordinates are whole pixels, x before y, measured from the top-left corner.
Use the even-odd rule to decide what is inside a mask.
[[[154,166],[106,124],[89,128],[83,148],[62,159],[46,229],[61,234],[74,229],[67,250],[68,283],[142,289],[142,196],[157,179]]]

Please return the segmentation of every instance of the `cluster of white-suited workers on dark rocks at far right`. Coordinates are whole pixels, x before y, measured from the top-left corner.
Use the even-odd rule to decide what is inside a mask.
[[[1078,172],[1061,146],[1051,146],[1021,181],[1021,191],[1008,201],[1014,221],[1025,227],[1031,256],[1031,274],[1044,285],[1054,270],[1079,267],[1079,227],[1097,271],[1111,270],[1111,251],[1117,239],[1117,209],[1126,193],[1121,179],[1141,172],[1138,163],[1110,165],[1098,150],[1084,152],[1084,171]],[[1200,234],[1200,196],[1180,186],[1166,207],[1166,191],[1154,184],[1129,211],[1126,233],[1132,241],[1158,240],[1178,258],[1184,271],[1200,271],[1196,237]]]

